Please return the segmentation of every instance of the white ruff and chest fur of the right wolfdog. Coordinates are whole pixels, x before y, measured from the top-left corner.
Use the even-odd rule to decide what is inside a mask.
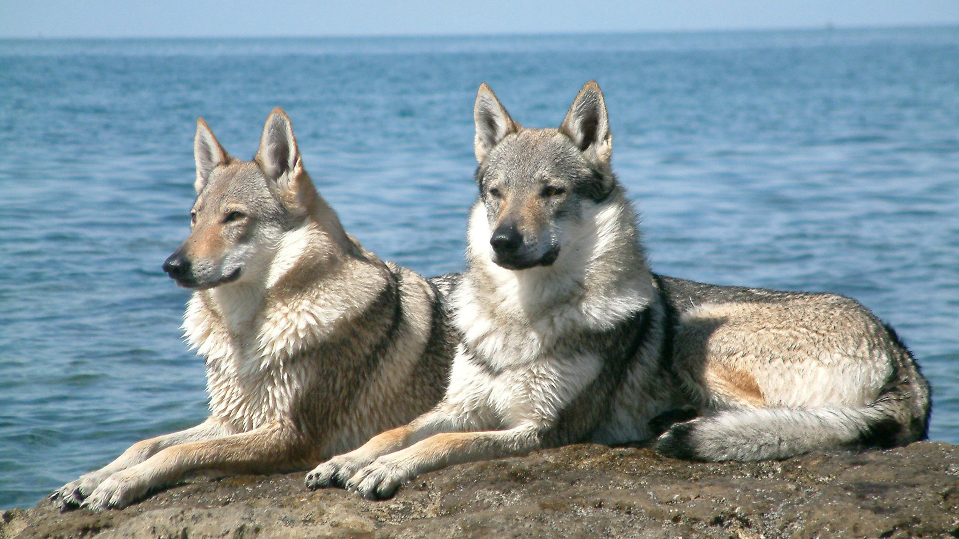
[[[470,269],[453,298],[467,345],[456,355],[446,399],[469,421],[549,428],[602,370],[585,336],[616,327],[651,301],[628,204],[583,213],[561,233],[550,267],[513,271],[492,262],[485,211],[474,207]]]

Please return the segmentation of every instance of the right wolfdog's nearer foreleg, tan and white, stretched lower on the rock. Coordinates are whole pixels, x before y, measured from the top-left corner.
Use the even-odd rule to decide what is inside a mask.
[[[542,447],[541,434],[535,425],[507,431],[436,434],[407,449],[377,457],[347,480],[346,488],[370,500],[389,498],[401,484],[424,472],[462,462],[526,455]]]

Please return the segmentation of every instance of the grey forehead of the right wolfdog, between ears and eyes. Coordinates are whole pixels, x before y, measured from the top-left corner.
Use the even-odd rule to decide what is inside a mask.
[[[485,181],[511,184],[574,180],[591,174],[582,152],[557,129],[523,129],[507,136],[489,153],[481,173]]]

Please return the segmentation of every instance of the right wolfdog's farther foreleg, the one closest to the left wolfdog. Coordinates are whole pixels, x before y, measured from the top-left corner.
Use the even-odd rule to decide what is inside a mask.
[[[307,474],[306,485],[314,489],[333,485],[343,486],[346,480],[377,457],[409,447],[433,434],[464,431],[468,428],[470,426],[466,420],[440,404],[413,419],[408,425],[377,434],[360,448],[333,457],[316,466]]]

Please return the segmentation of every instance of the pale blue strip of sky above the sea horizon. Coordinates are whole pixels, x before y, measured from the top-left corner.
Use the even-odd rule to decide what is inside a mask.
[[[959,0],[0,0],[0,37],[483,35],[959,24]]]

